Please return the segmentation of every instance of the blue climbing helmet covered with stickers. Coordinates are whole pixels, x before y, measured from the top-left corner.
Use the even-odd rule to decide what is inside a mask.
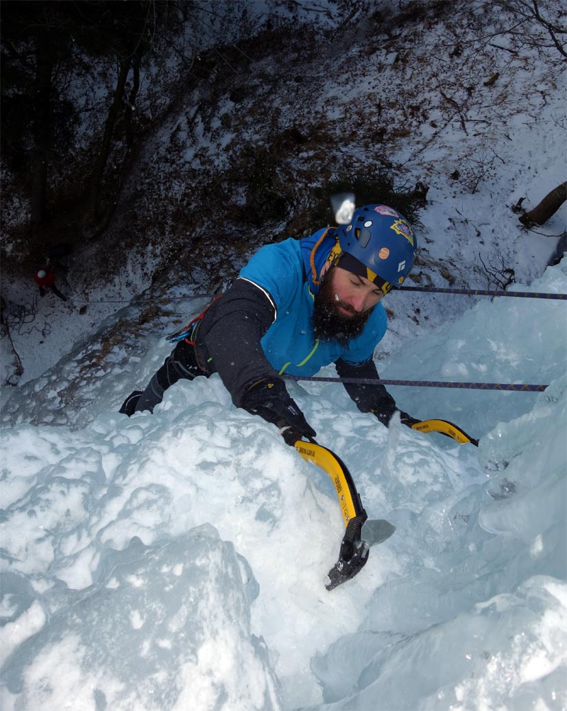
[[[366,277],[387,294],[400,287],[413,267],[417,240],[408,220],[387,205],[354,210],[337,228],[339,267]]]

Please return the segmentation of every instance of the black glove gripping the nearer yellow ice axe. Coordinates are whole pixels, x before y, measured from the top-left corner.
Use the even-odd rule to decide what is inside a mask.
[[[282,437],[291,447],[298,439],[314,437],[317,434],[307,424],[302,411],[292,400],[280,378],[263,378],[250,385],[242,407],[252,415],[260,415],[266,422],[280,427]]]

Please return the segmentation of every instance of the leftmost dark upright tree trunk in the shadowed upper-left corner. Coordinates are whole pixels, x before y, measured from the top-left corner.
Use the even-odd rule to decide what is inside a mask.
[[[53,57],[46,28],[38,29],[34,82],[33,150],[31,154],[31,223],[39,225],[46,208],[47,163],[50,146],[51,74]]]

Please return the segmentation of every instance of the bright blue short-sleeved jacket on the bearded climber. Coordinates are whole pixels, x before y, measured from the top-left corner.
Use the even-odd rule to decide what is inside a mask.
[[[349,341],[348,346],[314,338],[313,297],[319,287],[314,283],[313,267],[318,275],[335,243],[334,230],[325,235],[326,231],[318,230],[299,241],[290,238],[266,245],[240,271],[239,279],[261,287],[275,309],[275,320],[260,343],[278,373],[314,375],[339,358],[351,365],[365,363],[386,333],[386,311],[378,303],[364,331]],[[321,237],[322,242],[317,245]]]

